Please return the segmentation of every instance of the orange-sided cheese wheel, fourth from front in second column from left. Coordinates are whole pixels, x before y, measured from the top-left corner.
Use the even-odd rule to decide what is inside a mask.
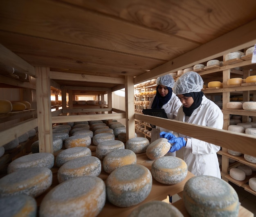
[[[90,146],[92,139],[88,135],[73,135],[68,137],[65,142],[65,148],[74,148],[74,147],[88,147]]]

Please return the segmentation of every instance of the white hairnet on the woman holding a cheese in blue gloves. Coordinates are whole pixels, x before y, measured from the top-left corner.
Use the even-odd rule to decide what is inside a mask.
[[[194,71],[186,72],[176,80],[173,86],[173,93],[178,95],[191,92],[200,92],[203,85],[204,81],[198,73]]]

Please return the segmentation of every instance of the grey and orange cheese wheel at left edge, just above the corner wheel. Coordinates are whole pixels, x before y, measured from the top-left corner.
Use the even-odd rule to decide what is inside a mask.
[[[1,197],[29,195],[37,197],[52,185],[52,171],[46,167],[30,167],[10,173],[0,179]]]

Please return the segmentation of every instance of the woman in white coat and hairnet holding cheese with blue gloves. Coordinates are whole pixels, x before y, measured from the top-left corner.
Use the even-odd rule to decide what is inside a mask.
[[[222,111],[214,102],[204,96],[201,91],[203,84],[201,76],[196,72],[184,73],[175,82],[173,92],[182,102],[176,120],[222,129]],[[177,137],[170,133],[162,133],[161,137],[165,137],[170,143],[173,143],[170,152],[178,151],[184,146],[184,161],[191,173],[221,178],[217,157],[220,146],[180,133],[177,134]]]

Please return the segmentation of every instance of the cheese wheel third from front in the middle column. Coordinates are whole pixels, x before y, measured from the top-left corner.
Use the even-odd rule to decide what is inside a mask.
[[[119,149],[124,149],[124,142],[121,142],[119,140],[108,140],[101,142],[96,147],[96,157],[98,157],[100,160],[103,160],[103,158],[108,153]]]

